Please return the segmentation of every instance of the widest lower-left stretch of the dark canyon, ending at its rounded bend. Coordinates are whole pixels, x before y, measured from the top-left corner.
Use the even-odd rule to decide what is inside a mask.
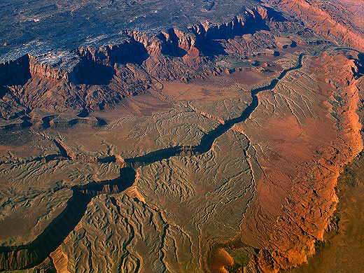
[[[27,269],[43,262],[76,228],[85,215],[87,204],[90,203],[92,197],[121,193],[132,186],[135,176],[134,169],[125,167],[120,169],[120,176],[117,179],[93,181],[85,186],[73,186],[71,188],[73,195],[68,200],[65,209],[34,241],[22,246],[0,247],[0,260],[3,261],[0,271]]]

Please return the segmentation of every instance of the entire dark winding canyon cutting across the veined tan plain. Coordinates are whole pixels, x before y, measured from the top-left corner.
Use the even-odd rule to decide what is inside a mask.
[[[197,146],[174,146],[165,148],[136,158],[125,159],[124,167],[120,167],[120,176],[117,179],[88,183],[85,186],[73,186],[72,197],[68,200],[65,209],[59,216],[53,219],[45,230],[34,241],[22,246],[1,246],[0,247],[0,271],[27,269],[41,264],[50,253],[55,251],[62,244],[69,233],[74,230],[81,218],[85,215],[87,204],[93,197],[101,194],[121,193],[133,185],[136,177],[136,169],[141,166],[150,165],[160,160],[168,159],[173,156],[193,156],[201,155],[210,151],[214,141],[221,137],[222,134],[230,130],[235,124],[244,122],[251,116],[251,113],[258,107],[259,92],[272,90],[279,80],[286,73],[302,67],[302,58],[300,54],[297,66],[283,70],[278,78],[272,80],[269,85],[258,87],[251,90],[252,102],[237,118],[226,120],[225,124],[220,124],[216,129],[210,131],[202,137],[200,144]],[[64,151],[61,149],[61,152]],[[97,162],[115,162],[116,158],[111,156],[106,159],[98,159]],[[21,258],[20,262],[17,260]],[[24,259],[24,260],[23,260]]]

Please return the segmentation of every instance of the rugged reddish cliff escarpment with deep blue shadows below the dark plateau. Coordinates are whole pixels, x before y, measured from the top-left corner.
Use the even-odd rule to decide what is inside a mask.
[[[124,97],[153,88],[158,80],[212,73],[211,57],[223,53],[223,49],[209,49],[218,45],[214,39],[268,29],[267,20],[272,20],[267,10],[256,8],[247,10],[245,18],[193,26],[190,33],[178,29],[155,35],[124,31],[123,41],[81,46],[71,57],[25,55],[1,64],[1,90],[9,101],[28,109],[43,107],[61,113],[79,107],[109,109]],[[11,114],[2,115],[7,116]]]

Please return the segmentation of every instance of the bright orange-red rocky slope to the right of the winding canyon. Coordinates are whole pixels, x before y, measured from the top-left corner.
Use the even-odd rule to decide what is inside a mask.
[[[295,92],[303,86],[306,91],[300,91],[300,95],[306,102],[311,106],[318,103],[311,108],[309,104],[287,102],[291,118],[289,114],[282,116],[282,120],[269,117],[269,125],[265,127],[259,116],[264,116],[263,108],[274,99],[268,94],[261,97],[264,107],[253,119],[262,125],[262,135],[253,137],[252,141],[270,140],[272,148],[263,150],[265,155],[259,156],[263,174],[256,185],[258,195],[241,222],[244,231],[241,241],[264,249],[253,261],[258,271],[289,269],[315,253],[315,242],[323,240],[338,202],[337,177],[363,149],[361,124],[356,113],[360,87],[356,71],[360,64],[357,58],[350,58],[337,52],[323,52],[311,59],[309,69],[296,78],[297,85],[286,82],[285,86],[274,90],[275,100],[279,102],[279,97],[288,94],[295,97]],[[305,74],[315,77],[316,90]],[[293,79],[297,75],[288,77]],[[309,99],[313,94],[319,98],[317,102]],[[316,115],[321,116],[321,120],[312,120]],[[282,134],[272,132],[269,129],[272,124],[278,128],[289,124],[290,130]],[[295,127],[300,128],[297,133]],[[251,134],[249,125],[243,128]],[[259,224],[256,219],[260,219]],[[255,237],[251,240],[252,233]]]

